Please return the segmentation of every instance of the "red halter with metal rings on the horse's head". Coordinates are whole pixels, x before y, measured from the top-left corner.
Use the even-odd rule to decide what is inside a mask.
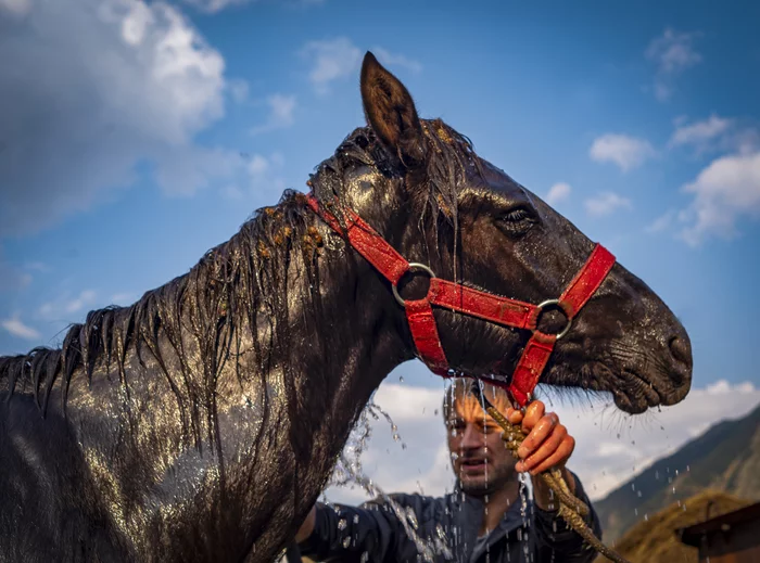
[[[600,244],[594,246],[581,271],[567,286],[558,299],[548,299],[539,305],[491,295],[461,283],[454,283],[436,278],[433,271],[417,263],[406,261],[380,234],[352,210],[346,212],[346,229],[343,229],[330,212],[320,208],[314,195],[308,195],[308,205],[334,231],[347,234],[349,242],[367,261],[369,261],[388,281],[391,282],[393,295],[406,310],[411,337],[419,358],[434,373],[448,378],[448,361],[438,335],[432,306],[463,312],[504,327],[525,329],[533,332],[520,360],[515,368],[509,385],[496,380],[490,381],[506,387],[512,398],[524,407],[531,400],[533,388],[546,367],[555,343],[570,330],[572,319],[586,304],[607,277],[615,256]],[[425,271],[430,276],[428,294],[421,299],[404,300],[398,295],[397,284],[402,277],[410,271]],[[557,334],[547,334],[537,328],[539,317],[544,308],[555,305],[562,309],[568,321]]]

